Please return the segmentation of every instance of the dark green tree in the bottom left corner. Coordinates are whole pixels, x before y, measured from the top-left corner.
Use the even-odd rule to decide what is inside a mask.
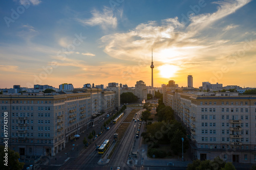
[[[6,153],[8,153],[8,166],[5,165],[5,156]],[[5,152],[5,147],[4,146],[0,146],[0,169],[23,169],[24,163],[23,162],[19,162],[19,153],[18,152],[14,152],[12,150],[10,150],[8,148],[8,151]]]

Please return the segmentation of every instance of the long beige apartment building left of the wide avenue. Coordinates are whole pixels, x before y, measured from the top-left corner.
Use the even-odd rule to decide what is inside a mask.
[[[55,92],[50,95],[0,95],[1,141],[8,112],[9,148],[26,156],[55,156],[75,135],[115,110],[115,91]],[[105,112],[93,118],[92,115]]]

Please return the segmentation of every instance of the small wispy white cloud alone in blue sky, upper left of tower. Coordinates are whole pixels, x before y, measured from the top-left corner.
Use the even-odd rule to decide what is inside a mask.
[[[121,15],[122,13],[120,13]],[[117,27],[117,17],[114,16],[114,13],[111,8],[104,7],[102,12],[94,9],[92,11],[92,18],[90,19],[77,19],[84,25],[88,26],[100,26],[103,30],[108,28],[115,29]]]

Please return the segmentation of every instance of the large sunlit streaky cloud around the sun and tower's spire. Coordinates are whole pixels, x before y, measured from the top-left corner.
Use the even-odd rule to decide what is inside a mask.
[[[190,23],[180,22],[178,17],[163,19],[160,22],[141,23],[126,33],[116,33],[101,37],[104,52],[122,60],[145,59],[150,61],[151,48],[154,48],[154,60],[162,63],[182,64],[184,60],[214,61],[216,56],[225,56],[232,52],[233,41],[225,39],[223,29],[236,28],[229,25],[220,27],[214,23],[236,12],[249,0],[216,2],[217,11],[189,16]],[[210,37],[211,30],[217,33]],[[218,31],[219,30],[219,31]]]

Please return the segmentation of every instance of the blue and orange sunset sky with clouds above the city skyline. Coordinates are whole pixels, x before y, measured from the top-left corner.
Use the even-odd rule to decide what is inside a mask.
[[[254,0],[0,1],[0,88],[256,87]]]

